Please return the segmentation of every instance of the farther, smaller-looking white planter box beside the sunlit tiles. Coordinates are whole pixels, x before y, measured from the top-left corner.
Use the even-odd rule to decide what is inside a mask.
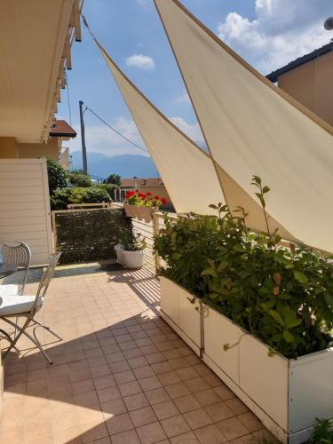
[[[161,316],[196,354],[202,350],[201,305],[186,289],[161,276]],[[191,301],[194,299],[194,303]]]

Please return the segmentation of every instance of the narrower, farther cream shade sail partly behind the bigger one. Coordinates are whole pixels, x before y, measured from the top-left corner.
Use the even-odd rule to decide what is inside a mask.
[[[95,42],[115,77],[175,210],[215,214],[209,208],[210,203],[225,202],[225,199],[210,156],[158,111]]]

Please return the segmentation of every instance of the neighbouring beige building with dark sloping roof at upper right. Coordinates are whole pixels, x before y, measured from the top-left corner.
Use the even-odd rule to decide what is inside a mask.
[[[266,78],[333,126],[333,43],[276,69]]]

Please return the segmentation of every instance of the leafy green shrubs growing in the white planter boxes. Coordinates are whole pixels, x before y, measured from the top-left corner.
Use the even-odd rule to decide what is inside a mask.
[[[253,177],[266,233],[253,233],[246,214],[211,205],[218,216],[165,218],[155,250],[161,274],[178,282],[288,358],[332,345],[332,258],[302,245],[281,245],[271,233],[261,179]],[[232,345],[228,345],[227,349]]]

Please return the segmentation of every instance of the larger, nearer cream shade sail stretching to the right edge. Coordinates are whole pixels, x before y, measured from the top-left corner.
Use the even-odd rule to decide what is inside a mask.
[[[274,224],[279,221],[282,237],[289,233],[333,251],[333,129],[268,82],[178,0],[155,4],[210,153],[244,191],[237,201],[251,213],[250,226],[263,225],[250,208],[256,174],[272,190],[266,210]],[[229,201],[235,194],[223,176]]]

